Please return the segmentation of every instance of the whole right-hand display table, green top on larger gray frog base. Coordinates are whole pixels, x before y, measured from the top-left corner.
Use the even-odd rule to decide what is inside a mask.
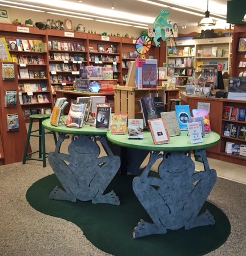
[[[155,145],[151,133],[144,132],[143,140],[129,140],[127,135],[107,133],[107,139],[121,147],[150,151],[150,160],[132,188],[150,215],[153,223],[140,220],[134,229],[134,238],[151,234],[165,234],[167,229],[192,229],[215,224],[212,214],[206,210],[200,214],[207,196],[216,182],[216,171],[209,168],[205,148],[212,147],[220,136],[207,133],[203,143],[188,143],[187,131],[171,137],[167,144]],[[191,152],[203,159],[204,171],[195,172]],[[158,173],[151,175],[151,167],[162,158]],[[122,159],[123,161],[123,159]]]

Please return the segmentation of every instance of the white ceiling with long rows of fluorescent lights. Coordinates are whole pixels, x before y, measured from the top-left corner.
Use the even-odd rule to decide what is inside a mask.
[[[178,23],[179,26],[182,26],[183,23],[185,23],[186,26],[196,26],[197,22],[199,22],[201,18],[205,16],[204,13],[207,10],[207,0],[149,1],[161,3],[170,7],[179,7],[187,11],[193,11],[201,14],[201,16],[199,17],[190,13],[184,13],[182,11],[171,9],[170,7],[162,7],[152,5],[150,3],[140,2],[139,0],[82,0],[82,3],[79,3],[78,0],[0,0],[0,5],[4,2],[9,4],[11,2],[27,3],[34,6],[74,11],[80,14],[97,15],[105,19],[114,18],[120,19],[121,21],[129,21],[135,19],[135,22],[144,24],[152,24],[152,22],[154,22],[154,19],[158,16],[160,10],[166,9],[170,12],[168,21],[170,21],[171,23]],[[64,7],[62,7],[61,2],[65,3]],[[114,10],[111,9],[112,5],[114,5]],[[91,7],[89,8],[89,10],[86,10],[88,6]],[[98,8],[102,8],[103,10],[99,10]],[[193,10],[189,8],[192,8]],[[221,18],[219,15],[222,15],[224,17],[223,25],[222,23],[220,23],[220,21],[217,21],[217,26],[219,25],[220,28],[225,28],[225,20],[227,15],[227,0],[209,0],[208,10],[210,11],[210,17],[212,18]],[[131,14],[134,15],[134,17],[131,17]],[[123,15],[123,17],[120,17],[121,15]]]

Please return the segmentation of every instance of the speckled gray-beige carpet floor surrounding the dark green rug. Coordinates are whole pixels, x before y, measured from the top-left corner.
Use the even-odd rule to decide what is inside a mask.
[[[48,135],[49,136],[49,135]],[[47,151],[53,151],[52,138],[46,139]],[[37,148],[37,141],[31,141]],[[63,145],[63,150],[67,145]],[[26,202],[27,189],[37,180],[53,174],[49,164],[27,161],[0,166],[0,255],[1,256],[106,256],[83,235],[83,230],[64,219],[47,216]],[[228,216],[231,235],[209,256],[246,255],[246,186],[218,178],[208,201]],[[178,245],[177,245],[178,246]],[[116,256],[116,255],[115,255]],[[151,255],[143,255],[151,256]],[[171,255],[170,255],[171,256]],[[182,255],[180,255],[182,256]]]

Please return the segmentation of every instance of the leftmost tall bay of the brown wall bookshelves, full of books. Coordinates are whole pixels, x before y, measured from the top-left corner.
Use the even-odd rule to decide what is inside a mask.
[[[30,113],[39,112],[40,109],[45,111],[45,109],[52,109],[53,100],[52,93],[50,89],[49,82],[49,60],[47,57],[47,36],[45,30],[40,30],[37,27],[21,27],[3,24],[0,29],[0,37],[5,37],[6,41],[17,41],[17,39],[22,41],[23,49],[10,49],[10,54],[13,61],[17,63],[18,70],[18,85],[20,90],[20,102],[23,115],[28,120]],[[31,45],[31,50],[27,50],[25,47],[25,40],[27,44]],[[32,43],[30,43],[32,42]],[[42,44],[38,44],[42,42]],[[36,48],[36,50],[33,49]],[[42,49],[41,49],[42,48]],[[40,50],[38,52],[37,50]],[[24,78],[20,76],[19,70],[27,70],[27,76]],[[31,72],[31,76],[30,76]],[[35,74],[36,76],[33,76]],[[30,78],[31,77],[31,78]],[[42,78],[41,78],[42,77]],[[34,91],[30,89],[30,92],[23,92],[23,86],[26,84],[29,88],[45,88],[45,90]],[[32,86],[29,86],[32,85]],[[44,86],[45,85],[45,86]],[[31,92],[31,90],[33,90]],[[43,103],[34,103],[34,99],[38,99],[38,94],[42,94],[44,99]],[[33,99],[33,103],[31,101]]]

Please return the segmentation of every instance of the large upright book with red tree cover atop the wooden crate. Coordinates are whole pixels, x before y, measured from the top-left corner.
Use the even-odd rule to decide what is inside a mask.
[[[157,87],[157,60],[136,58],[135,83],[139,89]]]

